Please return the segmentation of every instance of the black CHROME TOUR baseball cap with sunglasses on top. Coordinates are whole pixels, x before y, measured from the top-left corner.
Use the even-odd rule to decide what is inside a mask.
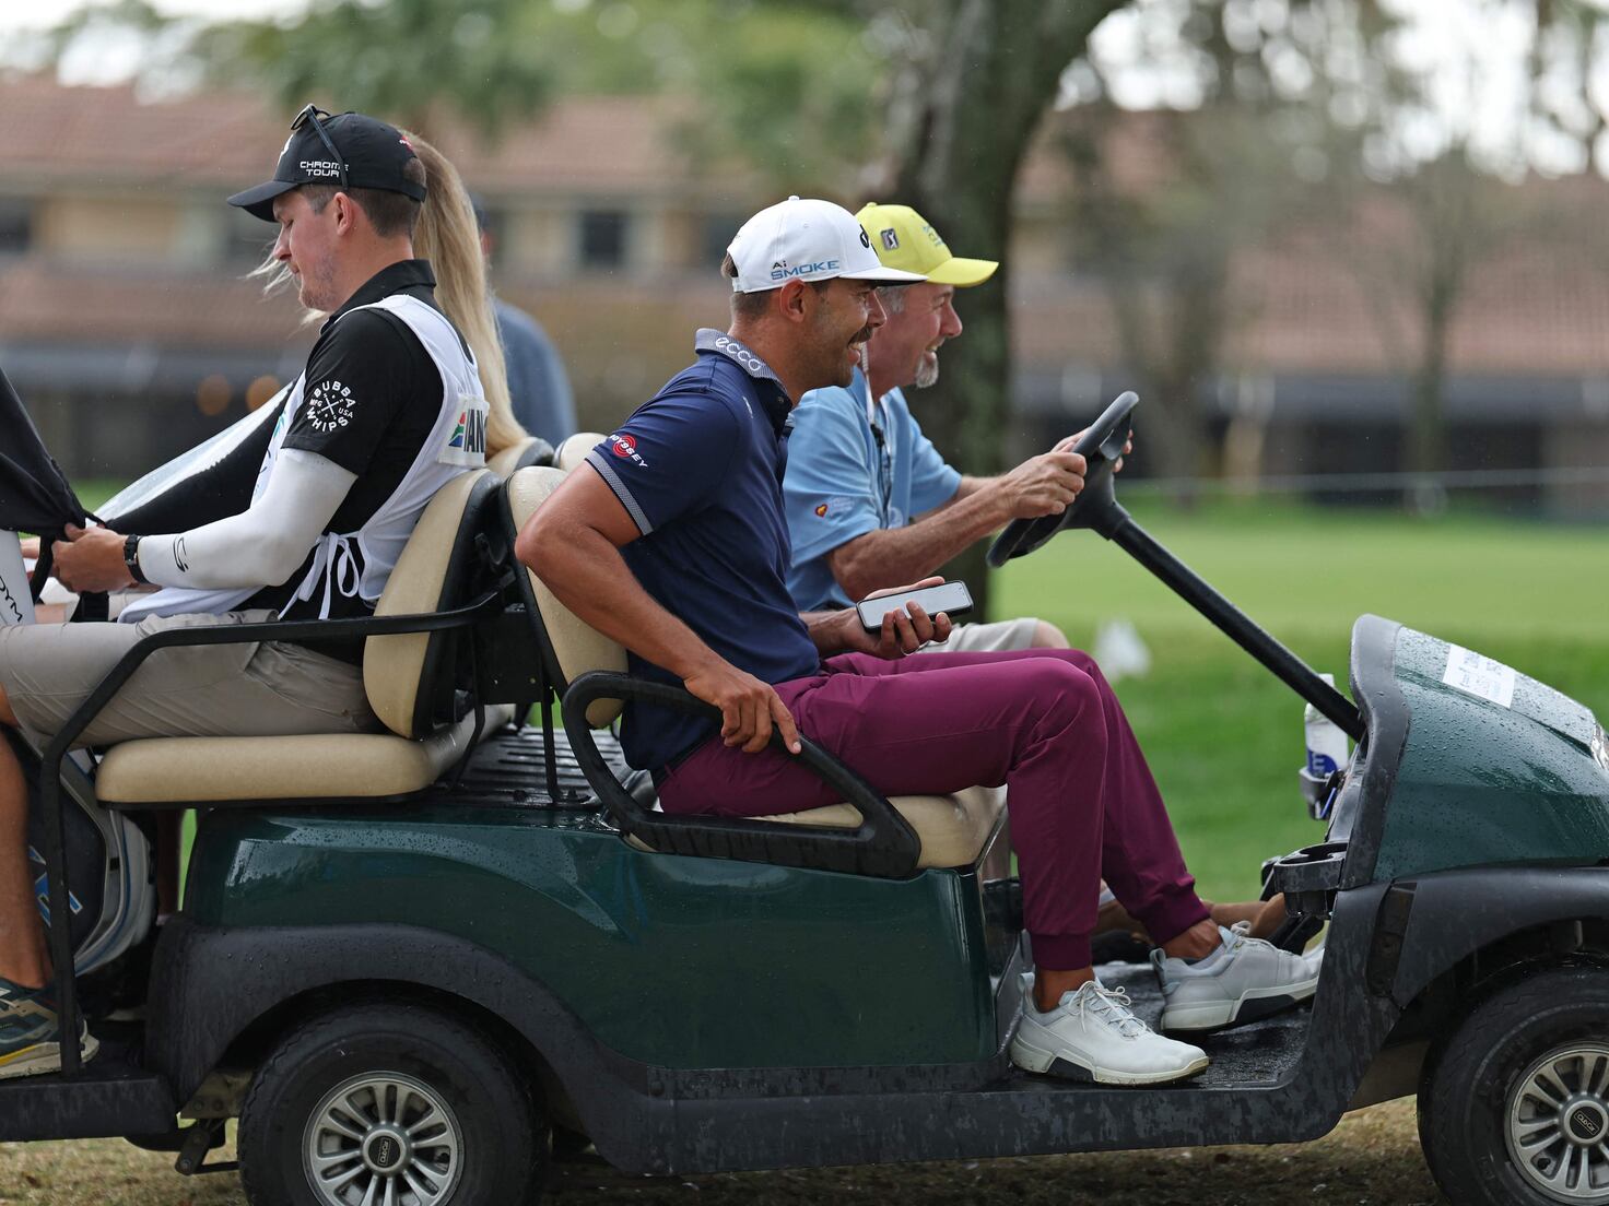
[[[425,199],[425,185],[402,175],[409,159],[417,159],[402,132],[362,113],[331,117],[309,105],[291,122],[274,178],[228,198],[253,217],[274,220],[274,198],[302,185],[338,188],[383,188],[415,201]]]

